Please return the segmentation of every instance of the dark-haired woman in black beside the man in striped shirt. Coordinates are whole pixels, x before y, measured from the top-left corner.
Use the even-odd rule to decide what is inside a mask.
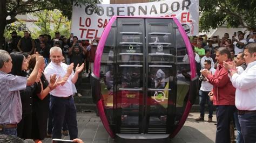
[[[21,53],[11,53],[12,59],[12,75],[29,77],[25,72],[28,67],[28,62],[25,56]],[[38,81],[39,78],[36,80]],[[18,123],[17,133],[18,137],[22,139],[31,138],[31,128],[32,128],[32,95],[41,92],[41,87],[36,86],[34,83],[27,86],[25,90],[21,90],[21,102],[22,102],[22,120]]]

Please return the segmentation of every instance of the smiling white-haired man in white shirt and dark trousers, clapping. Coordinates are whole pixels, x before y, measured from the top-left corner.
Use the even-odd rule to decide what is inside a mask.
[[[76,139],[78,136],[77,120],[76,120],[76,106],[73,94],[73,86],[78,78],[78,74],[83,70],[84,63],[79,67],[77,65],[75,74],[73,71],[73,63],[70,66],[62,62],[62,49],[59,47],[52,47],[50,49],[51,62],[45,68],[44,74],[47,80],[50,80],[50,75],[56,74],[57,77],[68,77],[68,80],[53,90],[50,94],[50,111],[52,113],[52,139],[62,138],[62,125],[64,119],[68,124],[70,140]]]

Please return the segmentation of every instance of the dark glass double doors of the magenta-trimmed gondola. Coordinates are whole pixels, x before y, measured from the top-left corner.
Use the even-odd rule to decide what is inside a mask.
[[[167,133],[176,74],[172,36],[171,19],[117,19],[116,133]]]

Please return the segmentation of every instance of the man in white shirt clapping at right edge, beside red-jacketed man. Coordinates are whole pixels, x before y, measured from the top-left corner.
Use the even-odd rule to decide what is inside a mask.
[[[235,106],[241,125],[244,142],[256,142],[256,43],[245,47],[244,59],[247,68],[240,75],[234,64],[224,62],[232,76],[235,88]]]

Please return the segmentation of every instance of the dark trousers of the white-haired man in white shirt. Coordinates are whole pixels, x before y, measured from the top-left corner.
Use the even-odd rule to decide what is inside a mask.
[[[69,128],[70,140],[78,137],[76,106],[73,97],[68,99],[51,96],[50,109],[52,113],[52,139],[62,138],[64,119]]]

